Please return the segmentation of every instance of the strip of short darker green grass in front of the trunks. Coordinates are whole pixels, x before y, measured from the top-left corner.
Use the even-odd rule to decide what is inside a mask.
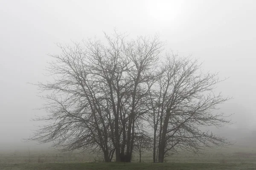
[[[2,164],[0,170],[256,170],[256,164],[215,163],[44,163]]]

